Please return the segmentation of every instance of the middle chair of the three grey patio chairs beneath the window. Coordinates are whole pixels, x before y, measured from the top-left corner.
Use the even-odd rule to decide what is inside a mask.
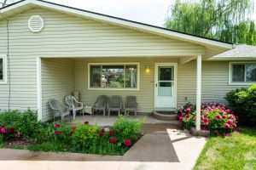
[[[122,98],[119,95],[113,95],[109,99],[108,102],[108,117],[110,115],[110,111],[118,111],[120,115],[120,111],[122,109]]]

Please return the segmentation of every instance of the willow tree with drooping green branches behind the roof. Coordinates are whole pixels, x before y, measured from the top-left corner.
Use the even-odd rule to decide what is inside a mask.
[[[171,8],[166,28],[224,42],[256,45],[253,0],[181,1]]]

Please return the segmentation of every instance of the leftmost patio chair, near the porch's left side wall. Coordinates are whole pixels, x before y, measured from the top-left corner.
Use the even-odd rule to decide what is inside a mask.
[[[70,121],[71,121],[70,111],[69,111],[68,107],[61,105],[58,100],[49,99],[49,107],[53,111],[54,122],[55,122],[55,117],[61,117],[61,121],[64,122],[65,116],[69,116]]]

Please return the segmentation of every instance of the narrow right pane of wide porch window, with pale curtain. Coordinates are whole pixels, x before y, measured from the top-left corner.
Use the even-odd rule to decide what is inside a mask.
[[[137,88],[137,66],[125,66],[125,88]]]

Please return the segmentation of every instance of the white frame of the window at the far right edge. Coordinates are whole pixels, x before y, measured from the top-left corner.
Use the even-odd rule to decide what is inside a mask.
[[[232,65],[247,65],[247,64],[256,64],[256,61],[236,61],[236,62],[230,62],[229,65],[229,85],[250,85],[255,82],[232,82]],[[246,73],[245,73],[246,74]],[[246,77],[246,75],[245,75]]]

